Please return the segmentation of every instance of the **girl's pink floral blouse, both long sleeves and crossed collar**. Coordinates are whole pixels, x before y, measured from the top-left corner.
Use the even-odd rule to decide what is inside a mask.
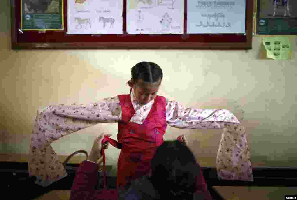
[[[130,122],[142,124],[154,100],[139,105],[133,90],[130,97],[135,109]],[[29,175],[36,176],[36,183],[42,186],[64,178],[67,172],[50,144],[98,123],[116,123],[121,120],[121,115],[118,96],[89,105],[59,104],[38,110],[29,147]],[[246,133],[230,111],[185,108],[177,101],[166,99],[166,120],[168,125],[181,129],[222,129],[217,153],[218,177],[224,180],[253,181]]]

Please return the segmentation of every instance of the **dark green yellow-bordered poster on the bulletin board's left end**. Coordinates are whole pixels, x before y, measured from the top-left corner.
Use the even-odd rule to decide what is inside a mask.
[[[22,30],[64,30],[62,0],[21,0]]]

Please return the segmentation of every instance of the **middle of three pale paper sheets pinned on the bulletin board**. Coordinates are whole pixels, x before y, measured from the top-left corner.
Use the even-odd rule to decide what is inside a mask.
[[[129,34],[183,34],[184,0],[127,0]]]

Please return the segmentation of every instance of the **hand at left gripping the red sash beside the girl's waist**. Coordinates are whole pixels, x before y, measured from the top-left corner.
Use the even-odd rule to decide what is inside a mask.
[[[88,157],[88,160],[91,160],[96,163],[98,162],[98,159],[102,156],[100,153],[101,148],[102,148],[101,142],[105,136],[110,137],[110,136],[112,136],[112,134],[105,135],[104,133],[101,133],[101,135],[95,139],[93,147],[91,149],[91,153]],[[103,144],[103,148],[108,149],[108,145],[109,145],[109,143],[106,142],[105,144]]]

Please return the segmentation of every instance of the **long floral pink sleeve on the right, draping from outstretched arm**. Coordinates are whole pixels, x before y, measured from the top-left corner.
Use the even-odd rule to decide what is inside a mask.
[[[219,178],[253,180],[244,127],[229,110],[185,108],[176,101],[167,101],[166,120],[175,128],[223,129],[217,153]]]

